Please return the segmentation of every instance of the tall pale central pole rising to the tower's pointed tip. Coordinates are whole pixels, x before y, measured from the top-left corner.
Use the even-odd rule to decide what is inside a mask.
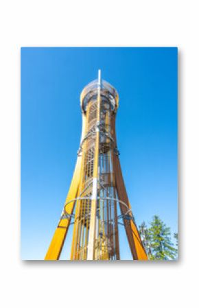
[[[95,139],[95,158],[93,166],[93,191],[91,200],[91,219],[89,226],[89,242],[87,260],[95,259],[95,227],[96,227],[96,211],[97,211],[97,177],[99,165],[99,149],[100,149],[100,88],[101,88],[101,71],[98,71],[97,86],[97,123],[96,123],[96,139]]]

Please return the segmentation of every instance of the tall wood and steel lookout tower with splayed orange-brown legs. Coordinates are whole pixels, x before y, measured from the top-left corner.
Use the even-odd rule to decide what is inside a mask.
[[[147,254],[134,222],[119,163],[115,116],[119,96],[101,79],[80,95],[82,137],[71,186],[45,260],[58,260],[73,226],[71,260],[119,260],[119,228],[126,229],[134,260]]]

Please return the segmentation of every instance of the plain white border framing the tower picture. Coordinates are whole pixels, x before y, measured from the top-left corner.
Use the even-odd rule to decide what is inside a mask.
[[[197,4],[194,0],[1,1],[1,307],[197,306]],[[178,47],[178,262],[20,261],[20,47],[77,45]]]

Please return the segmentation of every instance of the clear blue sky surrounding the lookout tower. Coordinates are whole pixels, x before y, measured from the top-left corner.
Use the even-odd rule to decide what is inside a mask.
[[[135,220],[148,223],[156,214],[177,231],[177,53],[169,47],[21,49],[22,259],[45,257],[75,167],[79,96],[98,69],[119,93],[117,143]]]

